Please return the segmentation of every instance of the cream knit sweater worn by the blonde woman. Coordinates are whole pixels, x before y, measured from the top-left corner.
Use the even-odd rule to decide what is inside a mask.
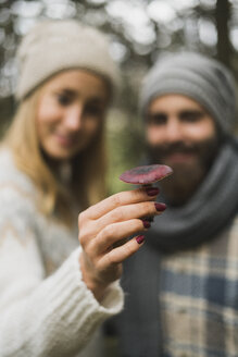
[[[123,306],[118,283],[101,305],[82,280],[77,230],[47,220],[36,189],[0,151],[0,357],[78,354],[98,325]]]

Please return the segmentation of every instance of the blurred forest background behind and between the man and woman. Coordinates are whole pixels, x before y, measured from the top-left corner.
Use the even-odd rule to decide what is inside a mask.
[[[15,49],[39,19],[78,19],[105,32],[122,69],[108,121],[110,193],[126,189],[122,171],[141,160],[141,79],[164,52],[189,49],[224,62],[238,81],[238,0],[0,0],[0,133],[15,110]]]

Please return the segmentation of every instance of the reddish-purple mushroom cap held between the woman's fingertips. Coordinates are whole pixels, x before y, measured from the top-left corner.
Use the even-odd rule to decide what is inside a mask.
[[[150,164],[125,171],[120,180],[135,185],[149,185],[166,177],[172,172],[173,170],[165,164]]]

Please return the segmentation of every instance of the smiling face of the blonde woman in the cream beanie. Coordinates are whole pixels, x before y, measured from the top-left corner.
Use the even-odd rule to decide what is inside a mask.
[[[91,144],[108,104],[104,81],[83,70],[58,74],[39,99],[37,133],[49,157],[71,159]]]

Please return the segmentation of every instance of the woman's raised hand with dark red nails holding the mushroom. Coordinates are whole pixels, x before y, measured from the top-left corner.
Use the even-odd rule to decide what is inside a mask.
[[[143,218],[165,209],[165,205],[154,204],[158,193],[154,187],[122,192],[79,214],[83,279],[98,300],[109,284],[121,276],[122,262],[139,249],[143,236],[122,239],[147,230],[150,223]]]

